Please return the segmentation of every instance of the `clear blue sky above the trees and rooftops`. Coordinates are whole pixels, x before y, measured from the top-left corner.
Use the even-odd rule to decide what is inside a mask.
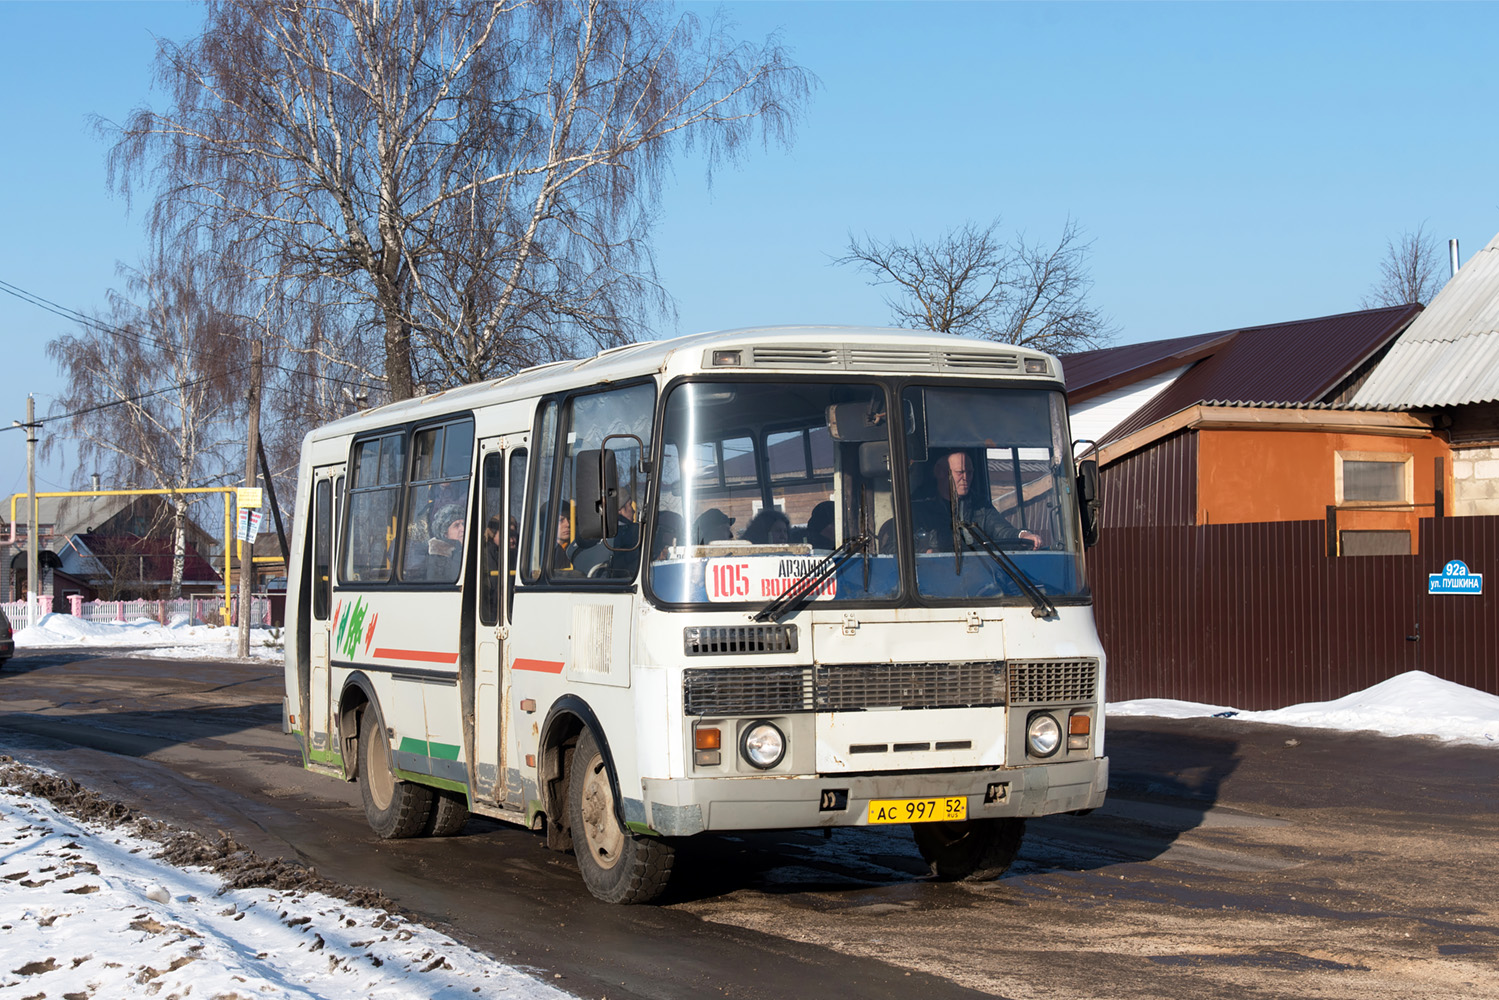
[[[1499,232],[1499,4],[730,3],[820,85],[787,150],[705,181],[681,160],[657,228],[679,324],[884,324],[832,265],[848,234],[931,238],[973,220],[1093,240],[1091,298],[1120,342],[1360,307],[1385,241],[1424,223],[1466,259]],[[151,90],[183,3],[0,3],[0,280],[97,307],[142,247],[105,187],[108,142]],[[61,391],[69,325],[0,295],[0,426]],[[69,450],[67,454],[70,456]],[[78,469],[76,472],[85,472]],[[39,489],[66,487],[69,459]],[[25,487],[0,433],[0,490]]]

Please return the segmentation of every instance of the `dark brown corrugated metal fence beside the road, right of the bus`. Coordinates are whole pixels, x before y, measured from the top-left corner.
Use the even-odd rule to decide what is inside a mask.
[[[1324,531],[1106,528],[1088,571],[1109,700],[1282,708],[1417,669],[1499,694],[1499,517],[1426,519],[1418,556],[1328,558]],[[1427,594],[1448,559],[1484,592]]]

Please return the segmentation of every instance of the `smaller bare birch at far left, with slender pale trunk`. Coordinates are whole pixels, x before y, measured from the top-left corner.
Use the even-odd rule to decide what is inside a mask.
[[[139,270],[126,271],[129,294],[111,292],[105,316],[46,345],[67,382],[70,412],[58,423],[78,442],[79,469],[100,472],[115,489],[223,483],[234,469],[232,439],[243,447],[246,343],[234,316],[205,291],[217,285],[222,294],[225,285],[210,280],[193,256],[157,249]],[[55,441],[49,436],[43,447]],[[193,502],[174,495],[163,505],[171,511],[174,598],[181,595]]]

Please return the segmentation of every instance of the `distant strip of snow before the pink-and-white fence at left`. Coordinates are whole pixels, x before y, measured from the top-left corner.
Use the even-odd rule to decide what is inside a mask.
[[[282,630],[250,627],[250,657],[282,658]],[[15,633],[16,649],[36,646],[124,646],[141,657],[237,658],[240,630],[187,621],[174,615],[168,625],[150,618],[129,622],[88,622],[72,615],[43,615]]]

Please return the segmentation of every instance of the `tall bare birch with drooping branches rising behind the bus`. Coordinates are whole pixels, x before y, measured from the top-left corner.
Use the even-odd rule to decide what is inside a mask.
[[[809,85],[773,40],[642,0],[210,0],[157,70],[171,108],[120,129],[114,181],[156,184],[159,232],[331,285],[379,367],[322,364],[393,399],[637,337],[670,154],[785,141]]]

